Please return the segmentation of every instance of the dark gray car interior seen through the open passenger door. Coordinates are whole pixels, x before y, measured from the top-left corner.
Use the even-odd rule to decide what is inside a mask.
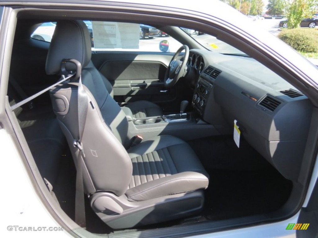
[[[7,95],[13,106],[79,69],[65,59],[80,63],[81,86],[73,77],[14,110],[43,182],[68,217],[75,221],[79,166],[86,230],[95,234],[200,225],[204,232],[297,212],[318,121],[305,92],[252,57],[205,48],[180,28],[186,24],[128,19],[183,46],[109,51],[92,49],[83,20],[116,19],[54,14],[17,15]],[[51,42],[31,38],[47,22],[56,23]],[[213,31],[199,30],[200,37]]]

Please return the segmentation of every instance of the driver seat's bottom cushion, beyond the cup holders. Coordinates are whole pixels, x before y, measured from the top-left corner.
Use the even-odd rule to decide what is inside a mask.
[[[149,101],[130,102],[125,107],[131,110],[135,118],[163,115],[162,109],[155,103]]]

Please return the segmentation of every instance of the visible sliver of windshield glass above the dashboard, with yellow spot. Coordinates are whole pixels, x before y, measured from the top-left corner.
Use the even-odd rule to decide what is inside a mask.
[[[205,34],[203,32],[181,28],[184,32],[190,35],[195,41],[201,44],[207,50],[211,50],[214,52],[222,53],[222,54],[232,54],[232,55],[242,55],[247,56],[244,52],[236,49],[235,47],[218,40],[215,36],[211,36],[209,34]]]

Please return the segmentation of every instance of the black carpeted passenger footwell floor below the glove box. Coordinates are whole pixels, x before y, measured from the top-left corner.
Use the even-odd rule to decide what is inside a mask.
[[[268,213],[288,199],[292,182],[285,179],[244,139],[232,136],[188,141],[210,175],[205,215],[210,220]]]

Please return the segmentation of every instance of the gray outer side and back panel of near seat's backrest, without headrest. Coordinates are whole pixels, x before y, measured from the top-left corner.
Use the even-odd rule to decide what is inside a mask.
[[[127,190],[132,176],[131,159],[104,122],[98,103],[91,92],[85,86],[84,89],[88,96],[88,110],[82,137],[86,193],[108,191],[122,195]],[[79,153],[73,146],[74,139],[79,138],[77,91],[78,83],[66,83],[50,90],[54,113],[66,136],[73,158],[77,158]]]

